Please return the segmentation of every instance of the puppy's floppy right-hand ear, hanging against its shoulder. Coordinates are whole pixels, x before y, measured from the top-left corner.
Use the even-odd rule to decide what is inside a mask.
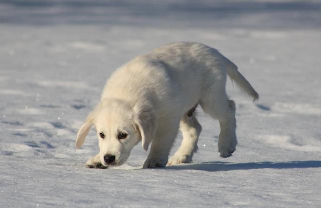
[[[155,115],[148,109],[136,109],[135,113],[134,126],[140,132],[142,148],[147,151],[156,134]]]

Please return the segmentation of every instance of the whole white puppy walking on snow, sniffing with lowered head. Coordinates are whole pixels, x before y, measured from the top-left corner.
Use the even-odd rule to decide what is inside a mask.
[[[76,147],[80,148],[90,127],[97,130],[100,152],[86,167],[121,165],[140,141],[146,151],[151,143],[144,168],[190,162],[202,129],[193,114],[198,104],[220,122],[220,156],[231,156],[237,144],[235,104],[226,95],[226,75],[258,99],[235,64],[199,43],[171,43],[120,67],[78,131]],[[182,144],[168,160],[179,128]]]

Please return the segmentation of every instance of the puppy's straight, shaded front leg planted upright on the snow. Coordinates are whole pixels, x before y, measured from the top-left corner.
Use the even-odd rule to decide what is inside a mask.
[[[165,167],[177,130],[178,122],[177,125],[166,125],[166,128],[158,130],[143,168]]]

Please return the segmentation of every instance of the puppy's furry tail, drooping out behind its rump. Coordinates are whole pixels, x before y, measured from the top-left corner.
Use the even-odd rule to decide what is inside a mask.
[[[259,99],[259,94],[254,90],[251,84],[243,77],[243,75],[237,70],[237,66],[227,59],[227,75],[232,81],[238,85],[241,90],[248,96],[253,98],[253,102]]]

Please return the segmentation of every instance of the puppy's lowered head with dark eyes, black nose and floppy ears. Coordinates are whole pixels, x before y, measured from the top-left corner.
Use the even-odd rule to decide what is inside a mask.
[[[125,163],[132,148],[142,141],[147,151],[155,135],[155,117],[150,108],[131,106],[125,101],[109,99],[89,114],[77,134],[76,147],[83,144],[90,127],[94,125],[99,140],[102,165]]]

